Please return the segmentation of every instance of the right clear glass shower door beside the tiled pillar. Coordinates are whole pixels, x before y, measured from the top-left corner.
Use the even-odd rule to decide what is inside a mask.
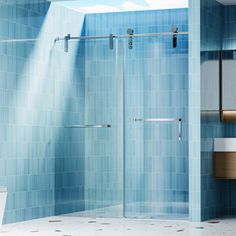
[[[125,216],[185,218],[187,38],[134,38],[125,56]]]

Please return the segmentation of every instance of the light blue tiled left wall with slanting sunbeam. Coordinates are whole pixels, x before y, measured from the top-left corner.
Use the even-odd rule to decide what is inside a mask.
[[[5,223],[54,215],[55,207],[60,213],[62,206],[74,207],[75,199],[78,206],[84,179],[83,134],[63,128],[82,119],[84,65],[77,46],[65,54],[63,43],[54,44],[68,32],[80,35],[84,16],[43,1],[9,2],[0,5],[0,38],[39,41],[0,44]],[[84,58],[83,50],[79,56]]]

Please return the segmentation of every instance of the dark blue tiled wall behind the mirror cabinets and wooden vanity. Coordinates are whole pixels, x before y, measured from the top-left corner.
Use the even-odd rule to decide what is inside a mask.
[[[223,6],[214,0],[201,1],[201,50],[209,52],[235,49],[235,19],[235,6]],[[212,57],[213,54],[216,56],[215,59]],[[218,60],[219,55],[213,54],[202,54],[202,63],[206,60]],[[218,107],[219,104],[217,109]],[[235,124],[222,124],[218,112],[202,113],[202,220],[236,214],[234,181],[215,180],[213,176],[213,139],[235,135]]]

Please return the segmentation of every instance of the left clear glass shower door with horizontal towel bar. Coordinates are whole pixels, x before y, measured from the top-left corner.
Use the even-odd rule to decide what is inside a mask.
[[[68,52],[61,53],[65,61],[76,56],[71,93],[78,99],[67,101],[62,130],[67,155],[56,163],[56,213],[122,217],[123,44],[70,41]]]

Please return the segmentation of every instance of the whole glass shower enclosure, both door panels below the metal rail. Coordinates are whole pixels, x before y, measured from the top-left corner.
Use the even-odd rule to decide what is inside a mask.
[[[129,40],[79,41],[81,112],[64,132],[81,140],[80,186],[64,188],[60,172],[58,191],[71,193],[60,195],[57,214],[188,217],[187,36],[177,48],[167,36]]]

